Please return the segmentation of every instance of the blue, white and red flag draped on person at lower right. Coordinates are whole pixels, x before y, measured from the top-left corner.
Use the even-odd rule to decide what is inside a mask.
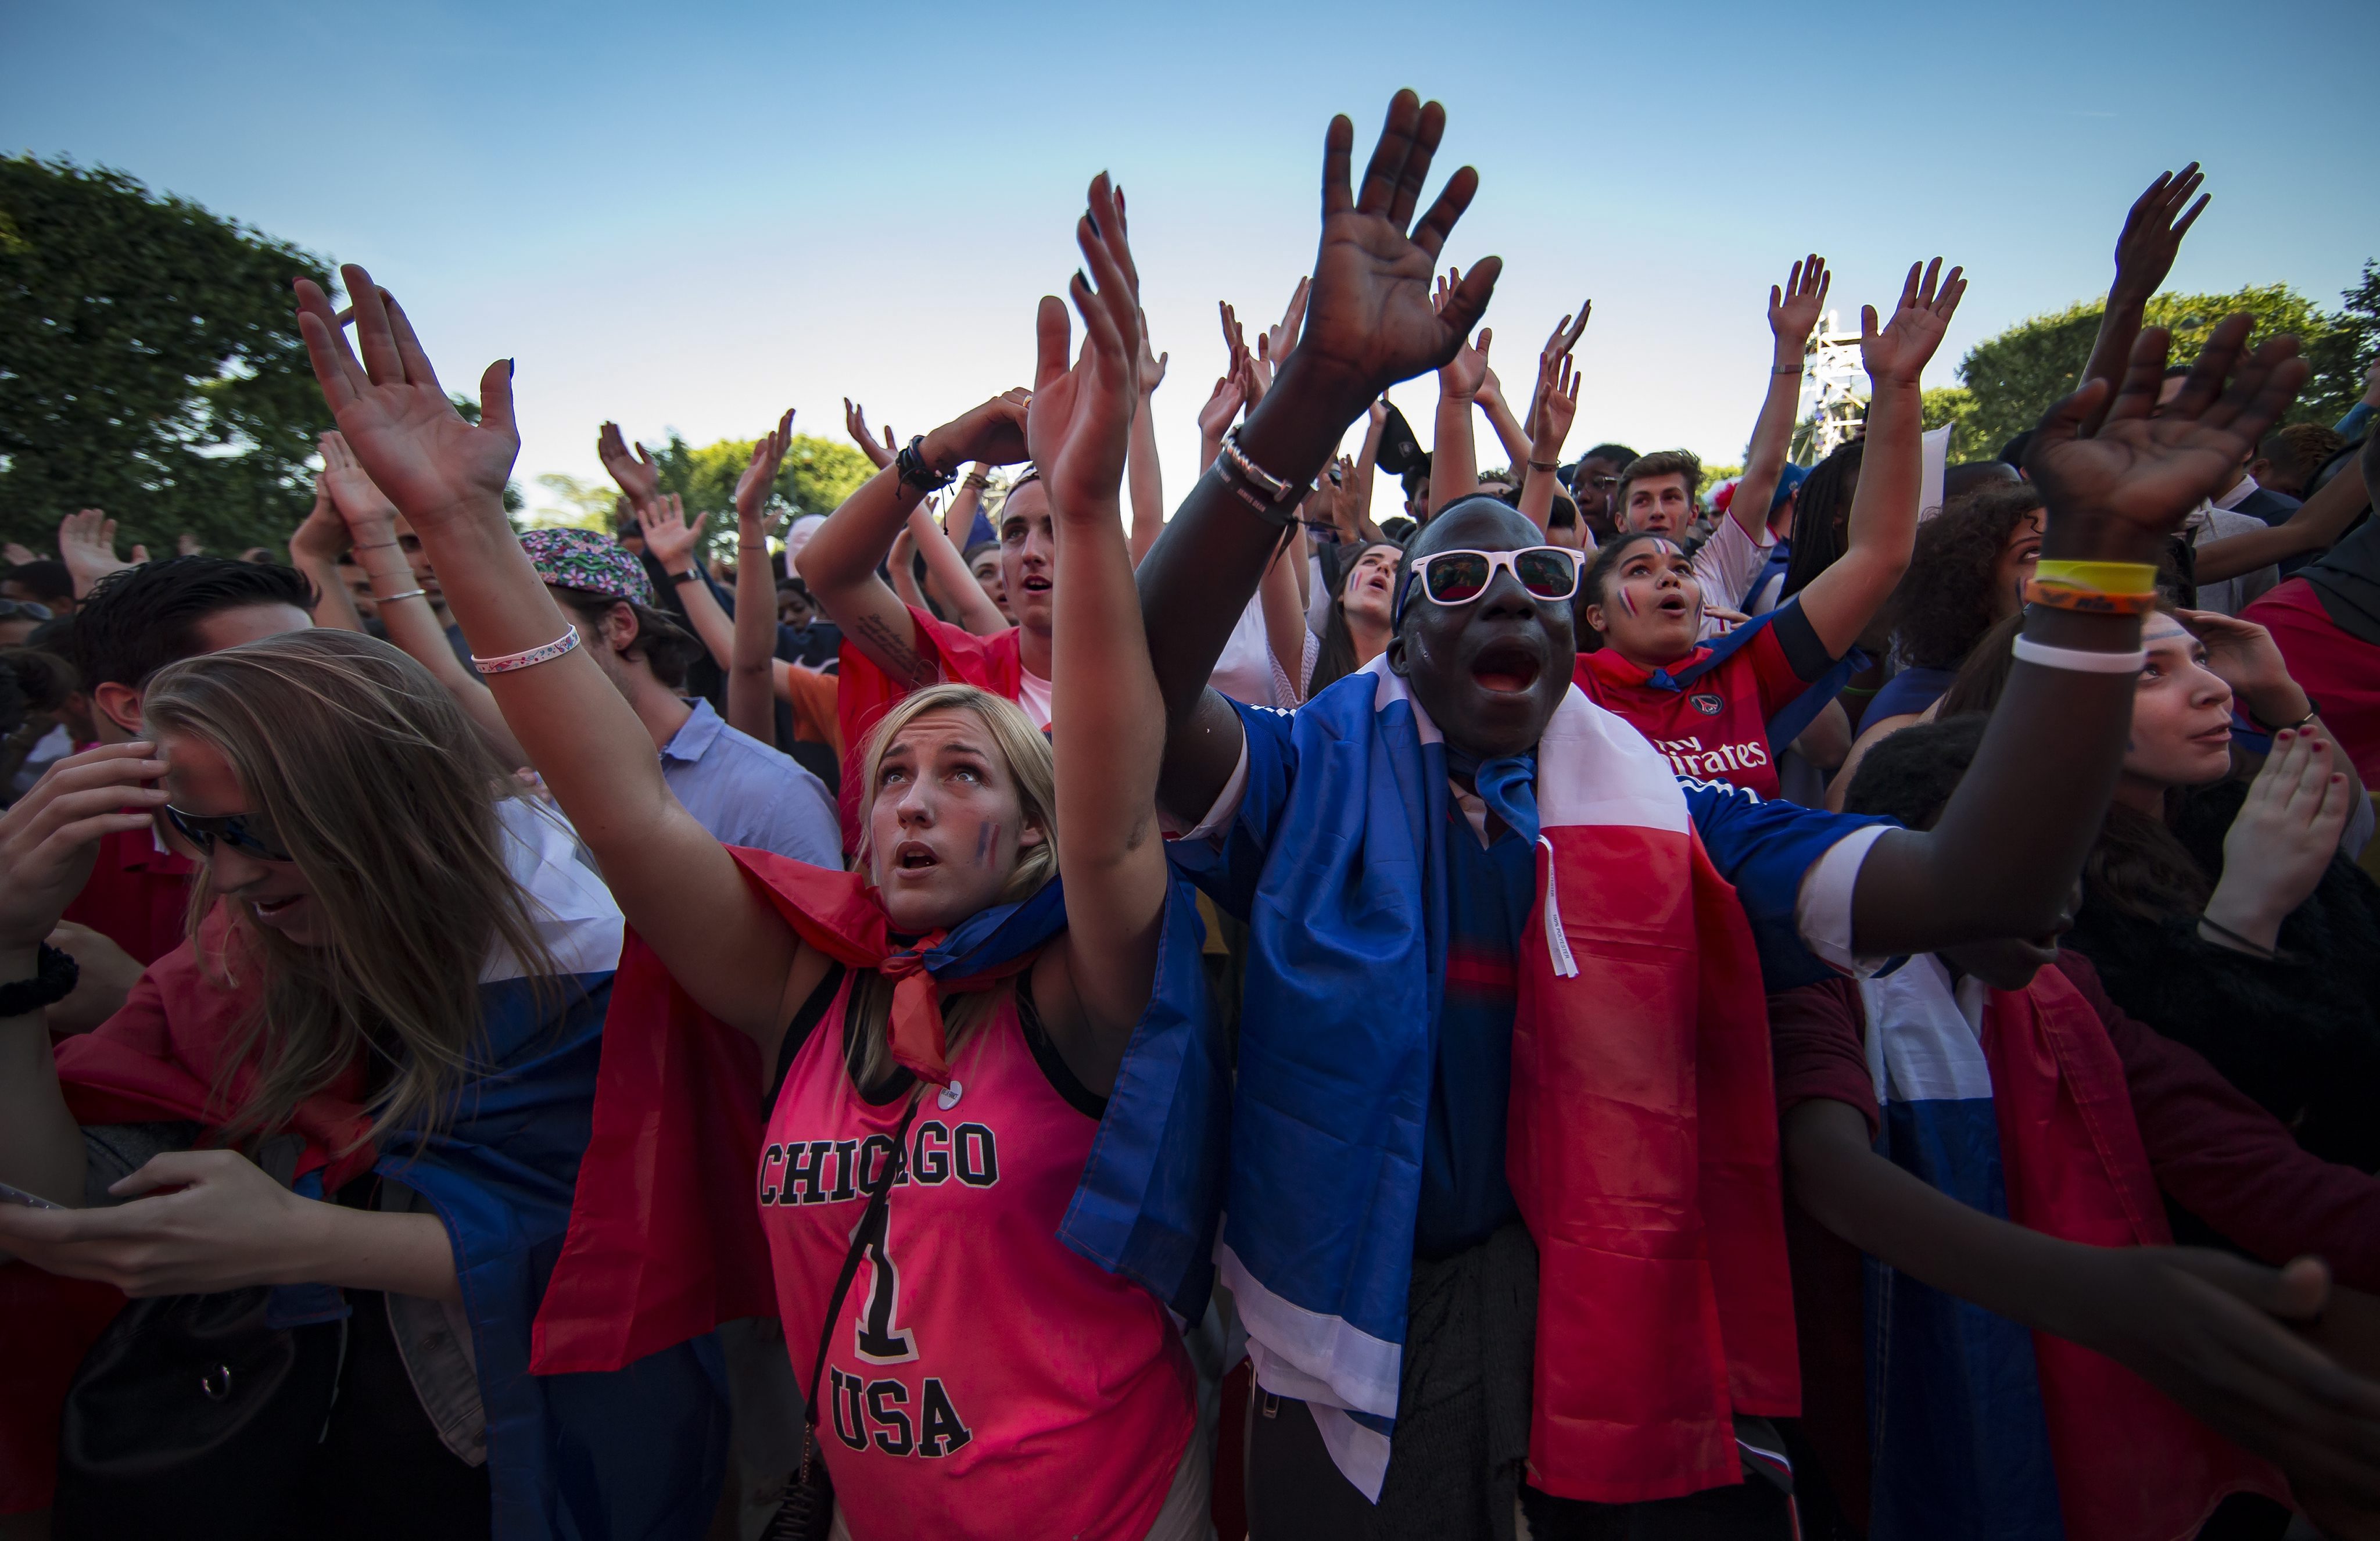
[[[2173,1246],[2099,1012],[2056,969],[1861,981],[1878,1150],[1952,1198],[2087,1246]],[[2225,1493],[2287,1486],[2090,1348],[1868,1258],[1875,1541],[2180,1541]]]

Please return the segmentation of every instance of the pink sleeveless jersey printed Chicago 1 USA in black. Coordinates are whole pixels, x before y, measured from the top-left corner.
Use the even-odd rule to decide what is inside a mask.
[[[904,1098],[871,1108],[835,1005],[795,1055],[759,1165],[785,1348],[807,1381],[826,1300],[892,1158]],[[819,1446],[859,1541],[1140,1541],[1195,1434],[1192,1374],[1147,1291],[1057,1241],[1097,1119],[1061,1098],[1002,991],[928,1086],[885,1236],[871,1239],[819,1377]],[[952,1096],[957,1093],[957,1096]]]

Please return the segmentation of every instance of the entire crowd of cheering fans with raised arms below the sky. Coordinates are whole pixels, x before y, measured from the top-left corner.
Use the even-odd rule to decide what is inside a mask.
[[[1935,257],[1792,464],[1792,260],[1704,488],[1445,129],[1171,512],[1102,174],[823,519],[516,531],[347,267],[286,562],[12,553],[0,1536],[2380,1536],[2380,364],[2168,362],[2187,167],[1985,462]]]

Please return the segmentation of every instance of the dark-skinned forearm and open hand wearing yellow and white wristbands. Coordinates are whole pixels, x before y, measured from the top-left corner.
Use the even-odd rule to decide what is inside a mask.
[[[2099,410],[2104,381],[2085,381],[2042,417],[2025,476],[2049,514],[2044,562],[2156,564],[2166,538],[2280,422],[2306,379],[2297,338],[2249,355],[2251,326],[2244,312],[2216,326],[2163,407],[2156,391],[2168,338],[2144,331],[2094,438],[2082,438],[2082,422]],[[2140,626],[2137,614],[2025,610],[2023,645],[2049,653],[2018,655],[1973,769],[1935,829],[1892,831],[1868,853],[1852,905],[1861,955],[2059,927],[2123,765]]]

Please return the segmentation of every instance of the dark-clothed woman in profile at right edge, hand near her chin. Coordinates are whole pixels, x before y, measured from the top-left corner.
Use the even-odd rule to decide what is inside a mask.
[[[2152,617],[2132,738],[2066,946],[2323,1160],[2380,1169],[2380,886],[2354,765],[2263,626]],[[2273,734],[2244,779],[2232,707]]]

